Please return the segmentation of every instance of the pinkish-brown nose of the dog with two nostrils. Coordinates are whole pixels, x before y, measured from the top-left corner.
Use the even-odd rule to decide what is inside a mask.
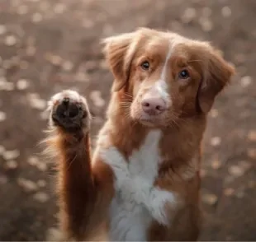
[[[142,109],[150,115],[161,114],[167,106],[162,98],[146,98],[141,102]]]

